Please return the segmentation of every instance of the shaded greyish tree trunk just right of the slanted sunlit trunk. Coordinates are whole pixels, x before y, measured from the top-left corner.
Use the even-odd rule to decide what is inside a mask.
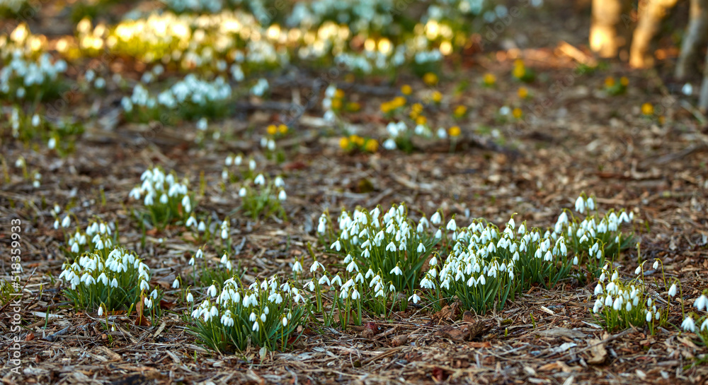
[[[691,13],[681,53],[676,63],[676,78],[680,81],[695,69],[696,57],[708,35],[708,0],[691,0]]]

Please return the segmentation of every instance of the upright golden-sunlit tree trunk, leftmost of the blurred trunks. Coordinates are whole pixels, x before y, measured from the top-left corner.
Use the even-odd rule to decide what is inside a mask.
[[[629,1],[593,0],[593,19],[590,23],[590,49],[600,57],[616,57],[620,47],[627,44],[629,30]],[[617,31],[620,22],[624,28]]]

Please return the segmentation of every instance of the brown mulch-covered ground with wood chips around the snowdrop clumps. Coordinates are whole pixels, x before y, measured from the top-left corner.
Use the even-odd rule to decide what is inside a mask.
[[[561,11],[558,11],[561,12]],[[546,16],[527,23],[540,25]],[[532,48],[518,52],[474,53],[464,59],[474,64],[443,72],[438,90],[454,95],[459,79],[477,84],[484,73],[498,79],[496,88],[472,86],[452,96],[467,105],[471,119],[462,126],[455,148],[423,143],[412,153],[379,150],[344,153],[338,137],[326,136],[319,103],[305,112],[287,141],[278,143],[285,162],[268,162],[258,136],[249,127],[264,127],[277,110],[244,112],[214,122],[210,128],[229,132],[229,140],[207,140],[195,145],[193,123],[166,126],[146,142],[148,125],[119,123],[113,131],[94,124],[65,158],[46,148],[27,148],[3,141],[2,155],[12,163],[22,155],[42,174],[42,186],[33,189],[11,167],[11,182],[0,186],[0,244],[9,247],[10,220],[22,223],[23,319],[22,333],[10,333],[10,318],[0,318],[0,338],[6,384],[658,384],[704,383],[706,348],[680,331],[680,307],[673,307],[670,324],[651,335],[630,328],[607,333],[592,312],[594,283],[564,281],[549,290],[532,288],[500,312],[460,319],[460,313],[440,314],[428,307],[409,307],[387,319],[365,314],[365,325],[327,328],[313,323],[285,352],[259,355],[258,348],[219,355],[200,345],[188,333],[178,304],[152,326],[135,326],[133,319],[117,320],[118,331],[101,328],[96,314],[67,306],[59,276],[64,263],[64,235],[52,227],[52,206],[74,201],[74,213],[85,224],[98,216],[115,222],[120,243],[135,249],[152,267],[153,283],[169,288],[185,271],[185,251],[197,246],[183,229],[142,234],[131,218],[128,199],[133,186],[150,165],[161,165],[198,184],[204,174],[206,199],[199,210],[214,218],[234,212],[236,191],[219,186],[224,158],[244,152],[267,165],[271,175],[287,174],[287,220],[249,220],[232,215],[231,237],[240,244],[234,257],[249,271],[265,276],[289,272],[296,257],[308,256],[307,243],[316,244],[314,225],[329,209],[373,208],[406,203],[415,211],[433,213],[441,207],[457,213],[458,223],[486,218],[502,226],[513,213],[539,227],[552,226],[563,208],[573,208],[581,192],[598,197],[600,211],[627,208],[635,213],[634,232],[641,242],[641,259],[661,259],[669,277],[678,278],[687,307],[707,288],[708,278],[708,148],[707,120],[690,107],[690,98],[671,93],[662,79],[663,67],[630,71],[624,63],[578,75],[576,59],[558,47],[561,40],[581,47],[586,16],[573,14],[569,32],[537,26],[528,34]],[[519,23],[505,31],[522,33]],[[521,32],[520,32],[521,31]],[[567,35],[567,36],[566,36]],[[497,47],[498,48],[498,47]],[[538,74],[527,85],[531,97],[520,100],[518,83],[509,76],[515,55]],[[662,64],[663,65],[663,64]],[[452,70],[450,70],[452,74]],[[607,76],[627,76],[627,93],[609,96],[603,91]],[[316,75],[301,71],[299,81],[284,78],[272,99],[290,102],[293,93],[307,93]],[[336,80],[362,110],[350,115],[368,136],[380,136],[384,124],[375,115],[379,105],[397,95],[403,83],[426,90],[416,78],[402,76],[395,84],[372,78],[347,83]],[[370,93],[367,93],[367,90]],[[89,103],[91,102],[91,103]],[[70,108],[89,118],[88,109],[111,108],[110,97],[79,101]],[[647,117],[641,105],[653,104]],[[499,122],[502,105],[519,105],[536,114],[529,124]],[[93,106],[96,110],[96,106]],[[660,118],[661,116],[661,118]],[[480,127],[495,131],[489,140]],[[469,216],[464,216],[466,210]],[[322,259],[321,249],[316,253]],[[3,253],[5,269],[8,257]],[[620,271],[631,275],[637,250],[622,252]],[[54,277],[54,278],[52,278]],[[203,288],[202,288],[203,290]],[[166,300],[176,300],[166,295]],[[455,310],[455,309],[453,309]],[[5,310],[4,310],[5,312]],[[47,315],[47,313],[49,315]],[[464,331],[483,322],[479,336]],[[57,333],[62,331],[62,333]],[[461,335],[462,333],[462,335]],[[11,336],[21,337],[22,374],[8,372]],[[47,336],[49,336],[47,338]],[[404,338],[405,337],[405,338]],[[474,337],[474,338],[473,338]]]

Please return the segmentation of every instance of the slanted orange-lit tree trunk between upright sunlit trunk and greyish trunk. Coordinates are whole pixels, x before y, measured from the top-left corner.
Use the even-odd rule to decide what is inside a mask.
[[[632,48],[629,51],[630,66],[634,68],[653,66],[654,59],[649,54],[651,40],[656,36],[666,11],[675,4],[676,0],[646,0],[639,3],[639,20],[632,37]]]

